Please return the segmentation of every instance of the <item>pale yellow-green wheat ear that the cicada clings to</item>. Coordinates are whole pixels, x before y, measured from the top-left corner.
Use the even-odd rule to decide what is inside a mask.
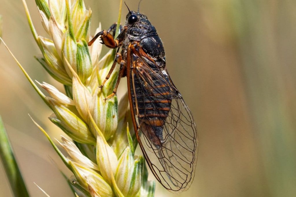
[[[72,185],[85,196],[92,197],[154,196],[155,182],[147,180],[144,158],[134,155],[135,147],[129,132],[132,128],[128,127],[131,120],[127,95],[119,105],[116,95],[104,101],[112,93],[118,68],[104,87],[99,88],[112,65],[114,52],[110,50],[99,59],[102,45],[97,42],[88,48],[91,9],[86,9],[83,0],[73,4],[68,0],[36,0],[48,34],[48,38],[44,38],[37,34],[25,0],[23,4],[42,53],[36,59],[54,79],[64,84],[66,94],[50,84],[36,82],[48,93],[48,96],[44,95],[15,60],[54,112],[49,119],[73,139],[70,141],[62,136],[62,142],[57,140],[69,155],[65,157],[34,121],[75,175]],[[100,30],[101,27],[96,32]]]

